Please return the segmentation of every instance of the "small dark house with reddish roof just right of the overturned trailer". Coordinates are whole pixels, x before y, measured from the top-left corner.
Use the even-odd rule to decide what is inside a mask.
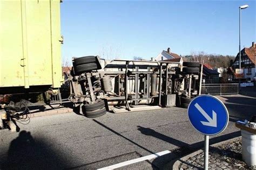
[[[219,73],[207,63],[203,67],[203,81],[204,83],[219,83]]]

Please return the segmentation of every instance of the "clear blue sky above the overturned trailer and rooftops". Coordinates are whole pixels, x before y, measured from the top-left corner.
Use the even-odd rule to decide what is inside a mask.
[[[256,41],[255,2],[64,0],[62,56],[150,59],[167,47],[181,55],[236,55],[240,5],[250,5],[242,10],[241,47]]]

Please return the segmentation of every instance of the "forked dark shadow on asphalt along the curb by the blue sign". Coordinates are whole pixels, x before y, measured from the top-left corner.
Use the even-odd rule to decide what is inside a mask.
[[[178,139],[168,137],[168,136],[166,136],[164,134],[161,134],[161,133],[159,133],[155,130],[152,130],[150,128],[144,128],[142,126],[138,126],[138,130],[140,132],[142,132],[142,134],[158,138],[160,140],[166,141],[167,143],[170,143],[170,144],[175,145],[175,146],[178,147],[175,150],[172,150],[171,153],[156,158],[152,162],[152,164],[153,164],[152,168],[153,169],[156,169],[155,166],[162,169],[164,167],[164,165],[166,165],[171,160],[176,160],[178,158],[181,158],[184,155],[192,153],[194,151],[197,151],[197,150],[199,150],[200,148],[202,148],[204,146],[204,141],[199,141],[199,142],[194,143],[194,144],[187,144],[184,141],[180,141]],[[215,144],[215,143],[219,143],[220,141],[224,141],[224,140],[227,140],[227,139],[239,137],[239,136],[241,136],[240,131],[228,133],[228,134],[225,134],[223,136],[214,137],[214,138],[210,139],[210,145]],[[210,147],[210,151],[211,151],[211,147]]]

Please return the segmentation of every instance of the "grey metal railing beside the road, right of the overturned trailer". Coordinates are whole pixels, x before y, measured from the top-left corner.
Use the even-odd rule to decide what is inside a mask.
[[[231,95],[239,93],[238,83],[229,84],[202,84],[201,94],[209,95]]]

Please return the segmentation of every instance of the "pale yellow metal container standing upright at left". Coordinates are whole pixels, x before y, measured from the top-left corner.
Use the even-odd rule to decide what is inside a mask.
[[[0,94],[6,87],[60,87],[61,43],[59,0],[1,0]]]

